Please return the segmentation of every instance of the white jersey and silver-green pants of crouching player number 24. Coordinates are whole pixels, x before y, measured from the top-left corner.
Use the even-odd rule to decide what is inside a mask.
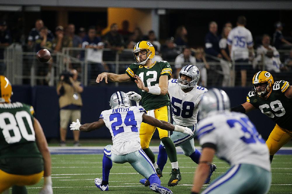
[[[144,113],[142,106],[120,107],[102,111],[100,118],[112,134],[113,145],[105,147],[105,155],[114,163],[130,163],[148,179],[156,171],[140,145],[139,131]]]

